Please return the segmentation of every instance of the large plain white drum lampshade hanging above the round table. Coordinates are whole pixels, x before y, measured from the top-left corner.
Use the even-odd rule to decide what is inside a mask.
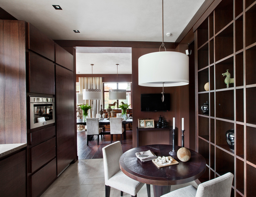
[[[189,84],[189,57],[180,52],[161,51],[139,58],[139,85],[149,87]]]

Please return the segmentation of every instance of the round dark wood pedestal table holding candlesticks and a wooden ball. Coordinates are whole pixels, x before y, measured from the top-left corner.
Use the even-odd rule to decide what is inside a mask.
[[[180,146],[175,146],[179,150]],[[136,152],[152,151],[156,156],[170,156],[172,145],[155,144],[139,146],[123,153],[120,157],[119,165],[124,174],[141,183],[153,185],[154,196],[159,197],[169,193],[171,185],[178,185],[191,182],[202,176],[206,169],[205,158],[191,149],[191,158],[187,162],[182,162],[177,156],[171,155],[179,163],[176,165],[158,168],[152,161],[141,162],[136,156]]]

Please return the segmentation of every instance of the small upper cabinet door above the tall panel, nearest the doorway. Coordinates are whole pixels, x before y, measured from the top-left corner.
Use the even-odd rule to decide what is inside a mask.
[[[74,70],[73,55],[67,52],[64,48],[55,43],[55,62],[63,67]]]

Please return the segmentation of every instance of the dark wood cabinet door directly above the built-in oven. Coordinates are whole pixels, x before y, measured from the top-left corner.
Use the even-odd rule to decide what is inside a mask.
[[[55,94],[54,63],[36,55],[28,53],[28,92]]]

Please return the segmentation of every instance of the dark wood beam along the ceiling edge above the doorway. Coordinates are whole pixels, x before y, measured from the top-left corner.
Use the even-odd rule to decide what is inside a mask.
[[[140,41],[107,41],[107,40],[54,40],[62,47],[131,47],[131,48],[159,48],[161,42]],[[175,48],[175,43],[165,42],[166,48]]]

